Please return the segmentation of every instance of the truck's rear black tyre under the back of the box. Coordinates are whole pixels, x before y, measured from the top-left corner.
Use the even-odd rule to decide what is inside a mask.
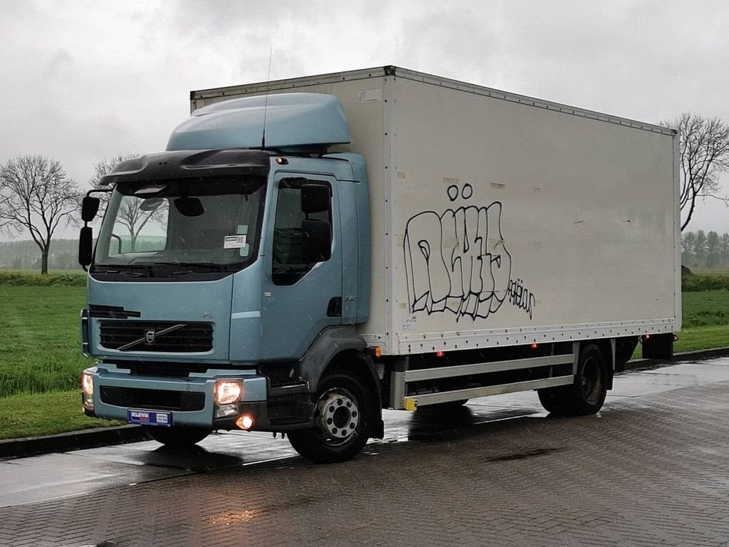
[[[574,383],[538,389],[539,402],[546,411],[558,416],[596,414],[605,403],[608,374],[603,352],[596,344],[589,344],[580,351]]]

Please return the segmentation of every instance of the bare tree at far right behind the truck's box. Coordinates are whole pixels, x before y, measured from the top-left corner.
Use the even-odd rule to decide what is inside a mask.
[[[683,231],[693,217],[696,198],[716,198],[729,205],[729,198],[718,195],[718,175],[729,169],[729,125],[716,117],[705,118],[688,112],[661,125],[677,129],[680,135]]]

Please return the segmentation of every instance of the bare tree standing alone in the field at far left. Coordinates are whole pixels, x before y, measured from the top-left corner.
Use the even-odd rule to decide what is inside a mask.
[[[28,230],[41,250],[41,273],[48,273],[48,252],[61,221],[73,222],[79,191],[58,160],[19,156],[0,166],[0,228]]]

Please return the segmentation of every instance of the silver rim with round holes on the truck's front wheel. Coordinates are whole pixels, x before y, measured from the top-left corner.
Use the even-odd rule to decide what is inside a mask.
[[[319,435],[329,444],[343,444],[356,436],[360,409],[346,389],[330,389],[316,403],[314,419]]]

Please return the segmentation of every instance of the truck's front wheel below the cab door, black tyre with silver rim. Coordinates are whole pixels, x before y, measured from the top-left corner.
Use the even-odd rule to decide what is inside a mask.
[[[362,450],[375,423],[375,396],[354,374],[322,376],[312,397],[314,427],[289,432],[294,449],[314,463],[346,462]]]

